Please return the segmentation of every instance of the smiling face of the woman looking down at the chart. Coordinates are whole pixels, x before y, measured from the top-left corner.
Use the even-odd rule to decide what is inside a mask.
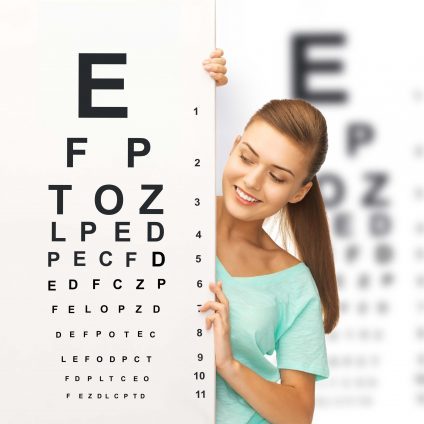
[[[308,164],[307,153],[295,141],[263,120],[254,121],[236,138],[224,168],[227,210],[239,219],[254,221],[274,215],[287,202],[299,202],[312,186],[309,182],[301,187]],[[243,204],[235,187],[259,201]]]

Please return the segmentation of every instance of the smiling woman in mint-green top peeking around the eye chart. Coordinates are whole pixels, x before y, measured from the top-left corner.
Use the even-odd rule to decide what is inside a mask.
[[[209,63],[217,85],[228,81],[222,55]],[[312,422],[315,381],[329,377],[325,333],[339,318],[316,177],[327,148],[325,118],[300,99],[271,100],[234,141],[216,199],[215,301],[200,308],[213,311],[217,423]],[[272,216],[283,248],[262,228]],[[274,350],[277,367],[264,356]]]

